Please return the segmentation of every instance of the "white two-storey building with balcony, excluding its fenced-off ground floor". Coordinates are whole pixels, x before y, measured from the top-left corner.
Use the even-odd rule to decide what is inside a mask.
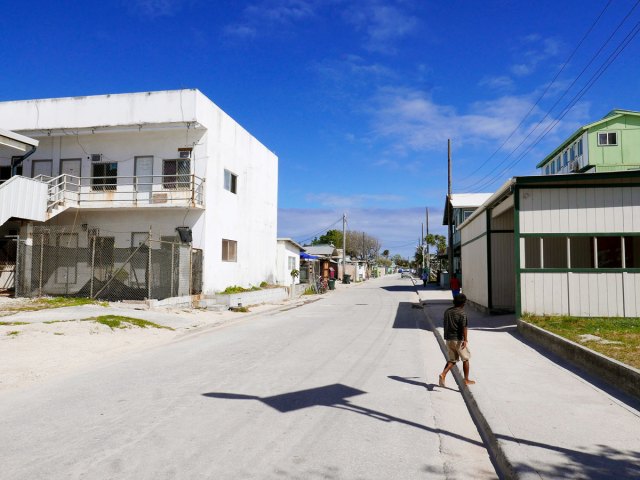
[[[275,281],[278,159],[200,91],[0,102],[0,125],[39,141],[17,173],[47,183],[45,225],[124,248],[184,227],[204,293]]]

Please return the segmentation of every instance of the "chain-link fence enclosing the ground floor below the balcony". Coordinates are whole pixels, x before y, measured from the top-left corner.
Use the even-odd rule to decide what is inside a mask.
[[[20,297],[164,299],[202,292],[202,251],[152,232],[36,227],[18,242],[16,272]]]

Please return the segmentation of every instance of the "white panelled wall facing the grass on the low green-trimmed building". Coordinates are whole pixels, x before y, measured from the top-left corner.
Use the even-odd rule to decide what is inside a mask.
[[[622,237],[637,232],[640,187],[520,191],[520,233],[535,235],[534,240],[538,235],[557,235],[565,248],[564,235]],[[553,259],[561,252],[550,253]],[[526,260],[525,239],[521,238],[522,313],[603,317],[635,317],[640,313],[640,274],[635,269],[527,269]]]

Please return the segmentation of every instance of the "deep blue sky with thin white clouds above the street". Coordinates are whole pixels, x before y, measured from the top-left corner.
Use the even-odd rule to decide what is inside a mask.
[[[636,0],[2,3],[0,100],[198,88],[279,156],[278,234],[299,241],[346,212],[410,255],[425,207],[444,233],[447,138],[454,192],[494,191],[578,126],[640,110],[636,38],[564,111]]]

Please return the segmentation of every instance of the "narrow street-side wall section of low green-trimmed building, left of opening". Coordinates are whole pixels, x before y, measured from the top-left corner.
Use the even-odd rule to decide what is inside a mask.
[[[480,213],[463,228],[462,237],[462,291],[479,305],[488,306],[487,285],[487,212]]]

